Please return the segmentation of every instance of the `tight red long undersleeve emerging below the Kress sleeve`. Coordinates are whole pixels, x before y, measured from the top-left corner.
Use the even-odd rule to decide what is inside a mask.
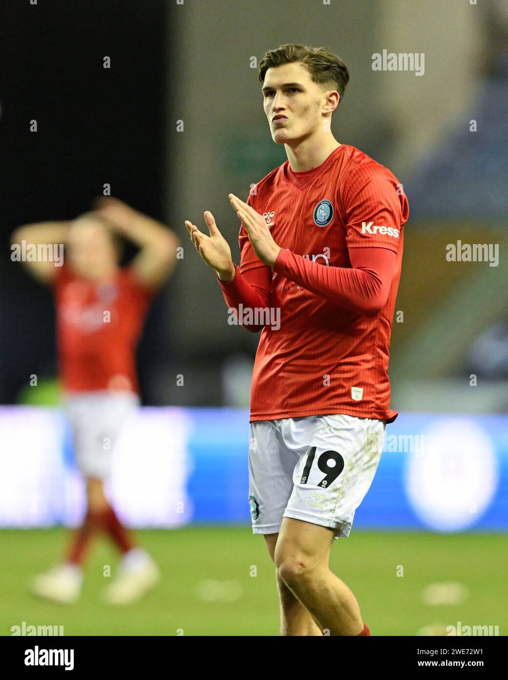
[[[397,254],[387,248],[348,248],[351,267],[327,267],[280,249],[273,271],[325,300],[374,316],[386,303]]]

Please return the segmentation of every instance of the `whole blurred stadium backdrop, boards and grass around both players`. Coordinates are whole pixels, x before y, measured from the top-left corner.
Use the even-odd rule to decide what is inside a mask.
[[[11,262],[9,237],[26,222],[73,218],[111,184],[184,241],[183,220],[201,228],[210,209],[238,262],[228,192],[247,196],[286,160],[251,58],[291,41],[344,59],[351,82],[334,135],[389,167],[410,201],[391,344],[400,415],[332,567],[373,634],[443,634],[457,622],[506,634],[507,5],[48,0],[10,6],[3,25],[0,633],[22,621],[69,635],[278,632],[273,568],[247,501],[257,335],[228,325],[190,245],[145,327],[145,406],[111,483],[164,583],[127,616],[105,607],[96,593],[114,556],[100,545],[79,605],[29,596],[27,581],[55,560],[84,498],[58,407],[50,292]],[[423,52],[424,75],[373,71],[384,49]],[[459,240],[498,244],[498,266],[448,262]]]

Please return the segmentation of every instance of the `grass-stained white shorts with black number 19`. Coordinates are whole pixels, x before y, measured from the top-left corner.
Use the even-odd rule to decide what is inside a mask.
[[[249,504],[255,534],[283,517],[347,538],[380,461],[386,420],[308,415],[251,423]]]

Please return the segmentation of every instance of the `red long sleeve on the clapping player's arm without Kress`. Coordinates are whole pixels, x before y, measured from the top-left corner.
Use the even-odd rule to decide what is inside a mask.
[[[243,274],[237,265],[234,265],[234,278],[231,281],[221,281],[217,276],[217,281],[222,288],[222,294],[229,309],[234,309],[238,318],[238,306],[259,309],[270,305],[270,282],[272,272],[270,267],[261,265],[254,269],[249,269]],[[263,326],[242,324],[251,333],[258,333]]]

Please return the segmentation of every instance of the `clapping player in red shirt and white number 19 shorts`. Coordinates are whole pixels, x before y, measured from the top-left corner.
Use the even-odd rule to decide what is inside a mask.
[[[259,64],[272,139],[288,160],[230,194],[241,261],[206,211],[186,222],[228,307],[280,309],[261,330],[251,390],[253,532],[276,565],[283,635],[368,636],[355,596],[328,566],[380,460],[390,404],[388,347],[408,205],[394,175],[335,140],[349,80],[328,48],[283,45]]]

